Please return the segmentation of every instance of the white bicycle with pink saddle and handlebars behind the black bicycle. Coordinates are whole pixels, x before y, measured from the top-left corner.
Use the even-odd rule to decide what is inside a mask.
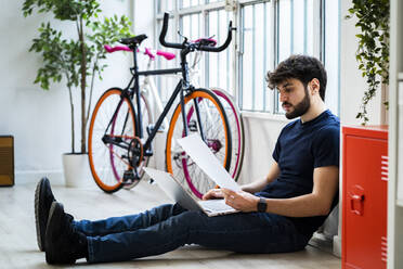
[[[211,40],[211,44],[212,46],[216,46],[217,41],[213,40],[213,39],[210,39]],[[197,40],[196,40],[197,41]],[[194,41],[192,41],[194,42]],[[105,50],[109,53],[113,53],[113,52],[116,52],[116,51],[130,51],[130,48],[126,47],[126,46],[116,46],[116,47],[109,47],[107,44],[104,46]],[[167,61],[171,61],[176,57],[176,54],[173,53],[170,53],[170,52],[165,52],[165,51],[160,51],[160,50],[153,50],[153,49],[150,49],[150,48],[139,48],[138,49],[138,52],[140,52],[141,54],[144,54],[146,55],[147,57],[147,71],[151,69],[151,65],[153,63],[153,61],[155,60],[156,56],[162,56],[165,57]],[[190,67],[190,80],[191,81],[196,81],[195,80],[195,77],[198,77],[198,69],[196,68],[199,60],[200,60],[200,51],[197,51],[196,52],[196,56],[194,57],[194,61]],[[198,87],[196,87],[198,88]],[[144,103],[141,104],[141,107],[142,107],[142,115],[145,115],[145,118],[146,119],[150,119],[148,121],[150,123],[153,123],[153,112],[150,110],[151,107],[151,103],[153,104],[153,108],[156,110],[156,115],[160,115],[162,113],[162,110],[164,110],[164,106],[162,106],[162,102],[159,98],[159,94],[157,92],[157,88],[155,86],[155,82],[154,80],[152,79],[151,76],[145,76],[144,79],[143,79],[143,82],[142,85],[140,86],[140,90],[141,90],[141,101]],[[216,93],[216,95],[219,97],[220,99],[220,102],[221,104],[223,105],[224,110],[225,110],[225,113],[226,113],[226,116],[227,116],[227,119],[229,119],[229,124],[230,124],[230,129],[232,131],[232,154],[231,154],[231,167],[230,167],[230,175],[234,178],[235,181],[237,181],[238,179],[238,176],[239,176],[239,172],[240,172],[240,168],[242,168],[242,163],[243,163],[243,158],[244,158],[244,140],[245,140],[245,137],[244,137],[244,124],[243,124],[243,118],[242,118],[242,114],[238,110],[238,107],[235,105],[235,102],[233,101],[233,98],[224,90],[222,89],[219,89],[219,88],[210,88],[210,90]],[[152,101],[150,101],[152,100]],[[144,116],[143,116],[144,117]],[[147,126],[147,124],[145,124],[144,121],[147,121],[147,120],[143,120],[143,126]],[[150,124],[148,123],[148,124]],[[168,120],[165,118],[164,119],[164,124],[162,124],[164,128],[162,129],[167,129],[168,128]],[[145,162],[148,162],[145,161]],[[144,174],[140,175],[141,178]],[[123,188],[127,189],[127,190],[130,190],[132,189],[133,187],[135,187],[136,184],[139,183],[139,181],[133,181],[132,183],[129,183],[129,184],[125,184]],[[190,185],[190,189],[191,190],[195,190],[196,188],[194,187],[193,182],[191,182],[191,185]],[[197,197],[200,197],[202,196],[202,193],[199,192],[194,192],[194,194],[197,196]]]

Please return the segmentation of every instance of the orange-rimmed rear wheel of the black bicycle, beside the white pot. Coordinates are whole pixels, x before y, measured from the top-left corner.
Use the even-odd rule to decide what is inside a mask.
[[[107,193],[120,190],[125,174],[133,172],[128,148],[135,139],[135,117],[131,101],[112,88],[98,101],[91,116],[88,156],[95,183]],[[126,145],[104,142],[107,137]]]

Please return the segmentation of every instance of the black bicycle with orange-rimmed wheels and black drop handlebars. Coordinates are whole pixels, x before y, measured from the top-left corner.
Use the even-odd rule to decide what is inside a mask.
[[[107,193],[118,191],[123,184],[140,180],[139,171],[146,165],[145,158],[153,155],[152,141],[177,97],[179,97],[180,102],[172,114],[167,134],[167,170],[173,175],[177,174],[177,178],[180,178],[178,176],[179,170],[182,170],[180,176],[187,182],[192,182],[195,175],[202,174],[174,141],[190,132],[198,132],[223,163],[225,169],[230,168],[231,157],[229,155],[232,144],[225,111],[211,91],[195,89],[192,86],[188,80],[186,55],[194,51],[220,52],[224,50],[232,39],[232,23],[230,23],[225,42],[218,48],[212,48],[208,46],[206,39],[190,42],[185,38],[182,43],[166,42],[168,17],[169,15],[165,14],[159,40],[165,47],[181,50],[181,67],[139,71],[136,49],[146,39],[146,36],[140,35],[122,39],[120,42],[127,44],[133,52],[134,66],[130,68],[132,78],[125,89],[110,88],[104,92],[93,111],[89,129],[90,169],[96,184]],[[142,98],[139,90],[139,77],[178,73],[182,74],[182,79],[178,82],[155,126],[146,127],[148,137],[145,139],[142,110],[135,111],[132,103],[132,99],[135,98],[135,107],[141,107]],[[190,103],[193,103],[193,105],[188,105]],[[190,107],[194,107],[194,110],[190,112]],[[177,125],[180,115],[182,126]],[[214,128],[211,128],[212,126]],[[105,161],[108,161],[110,166],[106,167]]]

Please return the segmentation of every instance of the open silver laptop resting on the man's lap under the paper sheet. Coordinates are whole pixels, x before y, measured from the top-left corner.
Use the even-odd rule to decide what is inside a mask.
[[[223,198],[197,201],[169,172],[150,167],[144,167],[143,169],[170,198],[187,210],[202,210],[209,217],[238,212],[226,205]]]

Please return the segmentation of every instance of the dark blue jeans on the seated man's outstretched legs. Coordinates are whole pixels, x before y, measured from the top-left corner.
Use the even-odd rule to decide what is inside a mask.
[[[74,225],[87,235],[90,262],[131,260],[192,243],[238,253],[295,252],[304,248],[310,240],[283,216],[237,213],[208,217],[179,204]]]

